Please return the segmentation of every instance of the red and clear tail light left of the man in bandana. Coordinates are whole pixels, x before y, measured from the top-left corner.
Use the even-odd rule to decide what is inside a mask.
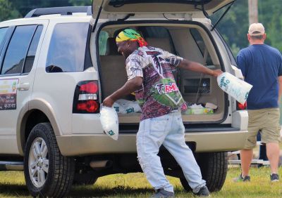
[[[97,81],[80,81],[73,97],[73,113],[99,113],[99,88]]]

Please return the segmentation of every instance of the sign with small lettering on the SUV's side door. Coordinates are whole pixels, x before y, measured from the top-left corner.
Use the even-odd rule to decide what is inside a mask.
[[[16,110],[18,79],[0,80],[0,110]]]

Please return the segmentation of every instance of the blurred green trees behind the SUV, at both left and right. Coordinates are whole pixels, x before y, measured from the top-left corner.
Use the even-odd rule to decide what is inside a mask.
[[[22,18],[34,8],[90,6],[91,4],[92,0],[0,0],[0,20]],[[246,36],[249,26],[247,6],[247,0],[236,0],[217,26],[221,34],[223,34],[224,39],[231,46],[234,55],[237,55],[240,48],[248,45]],[[262,22],[266,29],[266,44],[282,51],[282,1],[259,0],[258,6],[259,22]],[[221,11],[218,11],[212,16],[213,22],[216,22],[224,9],[221,9]]]

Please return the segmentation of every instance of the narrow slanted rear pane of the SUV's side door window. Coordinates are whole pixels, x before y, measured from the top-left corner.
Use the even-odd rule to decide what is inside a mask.
[[[35,61],[35,53],[37,51],[38,42],[42,33],[43,26],[39,25],[35,31],[35,35],[32,38],[30,48],[28,49],[27,56],[25,58],[25,66],[23,67],[23,73],[29,73],[32,69],[33,62]]]

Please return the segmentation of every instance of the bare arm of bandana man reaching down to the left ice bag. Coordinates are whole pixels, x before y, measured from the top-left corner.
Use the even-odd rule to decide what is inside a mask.
[[[126,81],[126,83],[121,88],[104,99],[103,105],[106,107],[113,106],[116,100],[123,98],[123,96],[125,95],[133,93],[133,91],[136,91],[137,88],[140,88],[142,83],[142,77],[135,77],[133,79],[130,79],[129,81]]]

